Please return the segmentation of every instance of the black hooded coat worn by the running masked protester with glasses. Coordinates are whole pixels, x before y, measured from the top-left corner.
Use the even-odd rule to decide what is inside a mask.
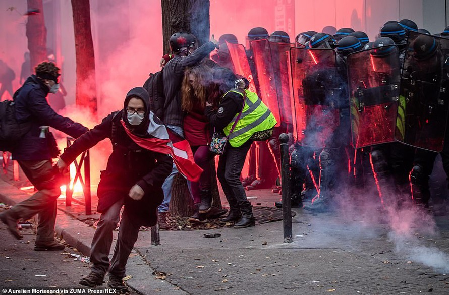
[[[138,97],[145,104],[146,113],[140,125],[130,125],[126,107],[132,97]],[[126,134],[121,124],[139,137],[151,137],[146,133],[149,125],[149,96],[143,87],[135,87],[126,95],[124,109],[113,112],[90,131],[75,140],[61,155],[67,164],[83,151],[99,141],[109,138],[113,141],[113,152],[107,161],[106,170],[101,171],[98,184],[97,211],[105,212],[111,205],[125,198],[125,212],[136,226],[152,226],[157,221],[157,206],[162,203],[162,183],[172,171],[172,158],[169,155],[149,151],[139,147]],[[157,121],[157,117],[154,117]],[[160,123],[160,122],[158,122]],[[113,131],[114,130],[114,131]],[[132,186],[139,185],[144,197],[135,201],[128,196]]]

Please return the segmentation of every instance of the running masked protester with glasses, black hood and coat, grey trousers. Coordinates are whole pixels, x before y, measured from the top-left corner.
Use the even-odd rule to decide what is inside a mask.
[[[109,138],[113,152],[101,171],[98,184],[98,207],[101,213],[92,239],[91,272],[80,284],[94,287],[103,283],[109,271],[110,287],[127,291],[122,279],[128,256],[137,240],[140,226],[153,226],[157,221],[157,206],[163,200],[162,183],[172,171],[172,158],[159,148],[161,138],[168,138],[165,126],[149,110],[149,95],[143,87],[131,89],[123,110],[113,112],[90,131],[73,142],[58,161],[63,170],[83,151]],[[148,143],[150,148],[142,147]],[[161,153],[162,152],[162,153]],[[119,236],[109,264],[113,230],[119,222]]]

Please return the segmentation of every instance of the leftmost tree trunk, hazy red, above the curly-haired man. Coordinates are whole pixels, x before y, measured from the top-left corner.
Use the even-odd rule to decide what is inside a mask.
[[[26,25],[31,73],[33,73],[34,67],[47,60],[47,29],[45,28],[42,0],[28,0],[27,4],[28,11],[39,10],[38,14],[28,17]]]

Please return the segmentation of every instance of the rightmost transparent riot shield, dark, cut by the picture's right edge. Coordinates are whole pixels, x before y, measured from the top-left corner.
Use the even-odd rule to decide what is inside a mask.
[[[449,100],[449,39],[410,32],[395,137],[405,144],[443,149]]]

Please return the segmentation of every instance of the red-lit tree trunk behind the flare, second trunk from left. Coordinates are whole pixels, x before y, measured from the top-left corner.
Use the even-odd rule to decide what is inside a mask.
[[[72,0],[76,54],[76,105],[97,113],[95,57],[90,30],[89,0]]]

